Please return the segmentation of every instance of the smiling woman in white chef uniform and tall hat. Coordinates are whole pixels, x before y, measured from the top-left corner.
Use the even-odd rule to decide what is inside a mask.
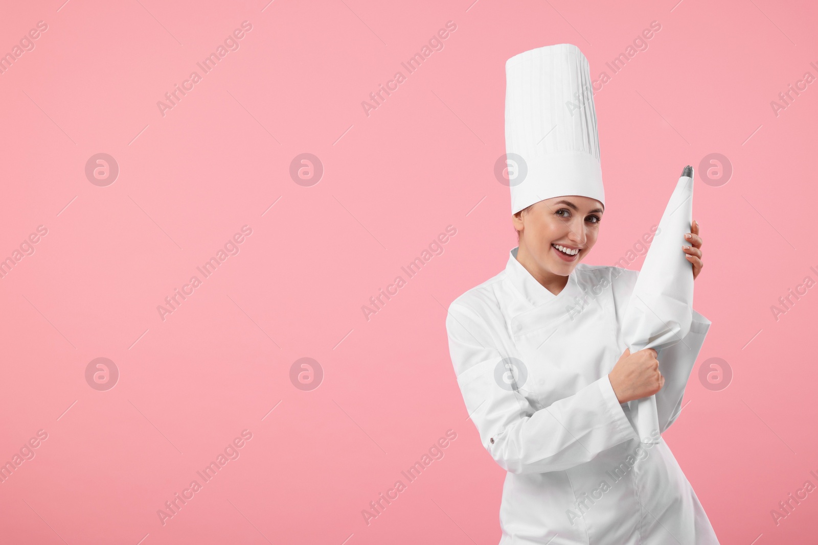
[[[576,46],[506,62],[519,245],[505,270],[448,309],[466,409],[483,447],[508,471],[500,543],[717,544],[661,439],[681,412],[710,321],[694,310],[690,332],[661,361],[652,349],[631,354],[620,324],[638,271],[582,263],[605,212],[590,93],[588,61]],[[701,245],[694,221],[679,243],[694,278]],[[659,427],[650,435],[658,442],[642,443],[631,408],[654,394]]]

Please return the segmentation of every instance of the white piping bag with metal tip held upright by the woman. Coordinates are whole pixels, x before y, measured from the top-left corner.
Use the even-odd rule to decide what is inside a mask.
[[[681,245],[690,245],[693,219],[693,168],[685,167],[670,196],[645,263],[636,278],[631,300],[622,320],[622,338],[631,354],[653,348],[662,361],[664,349],[684,342],[693,321],[693,266]],[[636,406],[636,434],[642,443],[659,441],[656,397],[650,395]]]

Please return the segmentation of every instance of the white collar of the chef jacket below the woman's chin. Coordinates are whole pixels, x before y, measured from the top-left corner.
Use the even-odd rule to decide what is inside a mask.
[[[569,319],[571,308],[582,295],[578,280],[578,268],[582,264],[571,272],[562,291],[554,295],[517,261],[518,249],[519,246],[509,252],[506,263],[506,281],[517,296],[508,308],[512,333],[526,333],[554,321]]]

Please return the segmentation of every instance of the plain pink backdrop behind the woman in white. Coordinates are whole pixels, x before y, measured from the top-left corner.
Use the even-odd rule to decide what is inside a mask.
[[[654,20],[596,92],[607,212],[587,262],[624,256],[697,168],[712,328],[665,440],[721,543],[815,539],[818,492],[779,525],[770,513],[818,485],[818,288],[771,312],[818,280],[818,83],[770,105],[818,76],[814,3],[62,2],[0,17],[0,52],[47,24],[0,74],[0,258],[47,228],[0,279],[0,462],[47,432],[0,484],[3,543],[497,543],[505,473],[466,419],[444,319],[516,243],[493,174],[505,61],[569,42],[596,78]],[[240,48],[163,117],[156,102],[245,20]],[[97,153],[119,164],[111,185],[85,176]],[[290,178],[302,153],[324,166],[317,185]],[[726,184],[703,183],[712,153]],[[245,225],[238,255],[160,319]],[[449,225],[445,252],[367,321],[362,305]],[[85,380],[98,357],[119,369],[108,391]],[[323,369],[315,390],[290,382],[302,357]],[[712,357],[732,369],[721,391],[699,381]],[[157,510],[245,429],[240,458],[163,525]],[[367,525],[362,509],[450,429]]]

